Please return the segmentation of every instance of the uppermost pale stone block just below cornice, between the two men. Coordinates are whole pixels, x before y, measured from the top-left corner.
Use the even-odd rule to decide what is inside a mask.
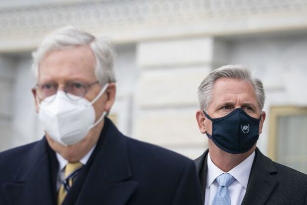
[[[212,38],[143,42],[137,47],[137,64],[139,68],[210,64],[212,50]]]

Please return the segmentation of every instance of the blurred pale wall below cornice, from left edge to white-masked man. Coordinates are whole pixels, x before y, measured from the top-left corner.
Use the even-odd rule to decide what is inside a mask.
[[[31,93],[35,81],[30,67],[28,53],[0,56],[0,151],[44,135]]]

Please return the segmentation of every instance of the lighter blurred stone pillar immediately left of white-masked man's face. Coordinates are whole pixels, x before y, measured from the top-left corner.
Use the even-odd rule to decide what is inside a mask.
[[[34,97],[31,92],[31,88],[36,84],[31,71],[31,55],[30,53],[23,53],[16,56],[14,61],[12,140],[13,145],[18,146],[41,139],[44,132],[38,122]]]

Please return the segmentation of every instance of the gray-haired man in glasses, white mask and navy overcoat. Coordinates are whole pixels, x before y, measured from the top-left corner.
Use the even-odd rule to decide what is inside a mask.
[[[45,131],[0,153],[0,205],[201,205],[193,161],[123,136],[105,117],[115,100],[113,49],[72,26],[34,53],[32,89]]]

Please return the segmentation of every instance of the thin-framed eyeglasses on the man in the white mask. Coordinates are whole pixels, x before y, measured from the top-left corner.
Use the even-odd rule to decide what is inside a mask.
[[[67,84],[65,84],[64,92],[69,99],[80,100],[86,95],[88,88],[98,82],[98,80],[90,84],[85,84],[77,81],[68,82]],[[35,90],[39,99],[44,100],[46,98],[45,100],[47,100],[48,102],[52,101],[55,98],[57,89],[57,83],[36,84],[35,86]],[[54,95],[53,98],[47,98],[52,95]]]

